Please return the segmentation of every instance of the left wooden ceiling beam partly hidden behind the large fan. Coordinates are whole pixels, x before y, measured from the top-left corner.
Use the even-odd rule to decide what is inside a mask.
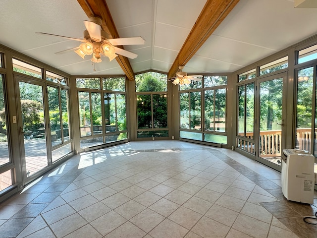
[[[109,35],[109,39],[120,38],[114,25],[106,0],[77,0],[88,17],[100,16],[103,19],[102,28]],[[117,46],[124,49],[122,46]],[[128,58],[118,55],[116,58],[128,79],[134,80],[134,72]]]

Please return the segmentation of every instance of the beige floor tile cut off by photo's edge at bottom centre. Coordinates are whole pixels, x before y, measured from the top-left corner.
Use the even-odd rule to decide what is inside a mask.
[[[188,230],[182,226],[165,219],[150,232],[150,235],[154,238],[183,238],[187,232]]]

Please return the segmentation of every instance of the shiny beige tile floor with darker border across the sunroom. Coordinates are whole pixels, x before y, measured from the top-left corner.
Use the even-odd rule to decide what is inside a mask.
[[[317,211],[235,151],[137,141],[74,156],[0,203],[0,238],[316,238]]]

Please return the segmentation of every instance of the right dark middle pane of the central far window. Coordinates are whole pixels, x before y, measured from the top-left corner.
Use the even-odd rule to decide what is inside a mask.
[[[167,95],[153,95],[153,125],[154,128],[167,127]]]

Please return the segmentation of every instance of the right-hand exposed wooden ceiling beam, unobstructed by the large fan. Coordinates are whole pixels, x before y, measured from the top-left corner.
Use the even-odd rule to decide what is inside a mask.
[[[211,36],[239,0],[207,0],[197,21],[168,71],[174,77],[179,65],[185,65]]]

